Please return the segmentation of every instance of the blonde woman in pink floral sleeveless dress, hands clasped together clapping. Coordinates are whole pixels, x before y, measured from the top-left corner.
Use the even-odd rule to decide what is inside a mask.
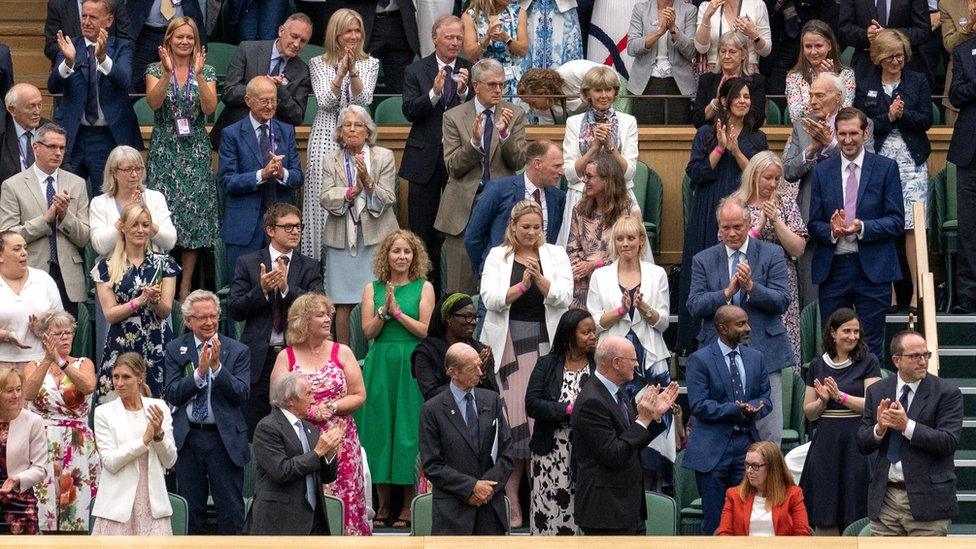
[[[306,374],[314,398],[306,419],[323,432],[336,424],[342,426],[345,436],[338,454],[339,476],[325,485],[325,493],[345,504],[345,535],[369,536],[373,531],[367,517],[362,451],[352,419],[366,401],[366,388],[352,349],[330,339],[334,312],[323,294],[308,293],[295,300],[288,309],[286,339],[291,346],[278,355],[271,383],[289,371]]]

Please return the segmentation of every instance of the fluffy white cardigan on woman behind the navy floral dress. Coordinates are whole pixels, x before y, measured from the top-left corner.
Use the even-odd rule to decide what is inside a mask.
[[[142,200],[149,209],[153,223],[159,227],[159,232],[152,238],[152,250],[160,253],[172,250],[176,245],[176,227],[170,219],[166,197],[159,191],[145,189],[142,191]],[[115,241],[119,238],[119,231],[115,228],[118,220],[119,209],[115,205],[115,197],[100,194],[88,205],[92,248],[99,256],[107,256],[115,249]]]

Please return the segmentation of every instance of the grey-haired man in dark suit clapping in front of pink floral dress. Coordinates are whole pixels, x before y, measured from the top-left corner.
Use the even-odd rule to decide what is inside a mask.
[[[319,432],[305,421],[312,388],[301,372],[288,372],[271,386],[274,408],[258,423],[251,448],[257,462],[254,504],[247,518],[253,536],[327,534],[322,484],[338,476],[336,452],[343,429]]]

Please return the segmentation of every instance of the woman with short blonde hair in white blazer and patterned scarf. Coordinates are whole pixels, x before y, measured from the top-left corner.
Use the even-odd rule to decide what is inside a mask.
[[[573,207],[583,197],[583,174],[597,153],[607,151],[620,163],[627,181],[627,194],[634,198],[634,173],[637,171],[637,119],[617,112],[613,102],[620,95],[620,79],[610,67],[590,69],[580,84],[580,99],[586,111],[566,120],[563,138],[563,168],[566,173],[566,206],[556,244],[566,246]]]

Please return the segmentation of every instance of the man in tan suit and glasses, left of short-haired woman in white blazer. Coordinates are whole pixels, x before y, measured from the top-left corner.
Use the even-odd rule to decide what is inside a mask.
[[[492,179],[515,175],[525,165],[525,112],[502,100],[505,69],[494,59],[471,67],[474,100],[444,113],[442,141],[447,186],[434,219],[444,233],[447,293],[478,293],[464,248],[464,229],[475,197]]]

